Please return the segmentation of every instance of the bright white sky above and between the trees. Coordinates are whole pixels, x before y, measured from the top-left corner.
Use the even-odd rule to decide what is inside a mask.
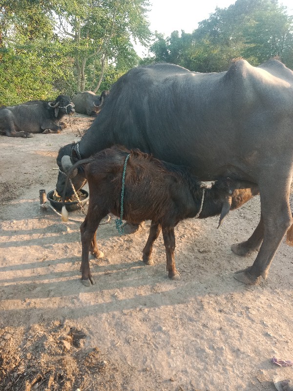
[[[215,11],[216,7],[227,8],[230,4],[234,4],[233,0],[150,0],[150,12],[148,20],[150,22],[150,30],[157,30],[168,37],[172,31],[184,30],[186,33],[191,33],[197,28],[197,23],[209,18],[209,14]],[[279,0],[280,4],[287,6],[288,14],[293,15],[293,1]],[[141,46],[135,46],[138,55],[147,55],[147,50]]]

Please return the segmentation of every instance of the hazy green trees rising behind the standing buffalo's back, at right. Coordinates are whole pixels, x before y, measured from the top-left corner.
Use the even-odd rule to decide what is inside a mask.
[[[216,8],[192,34],[157,33],[150,62],[171,62],[199,72],[227,70],[233,58],[259,65],[277,56],[293,67],[293,17],[276,0],[237,0]]]

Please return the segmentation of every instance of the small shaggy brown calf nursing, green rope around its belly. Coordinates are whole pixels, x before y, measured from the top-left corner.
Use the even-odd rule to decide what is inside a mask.
[[[229,178],[205,188],[186,167],[163,162],[138,150],[130,152],[116,146],[80,160],[73,166],[67,166],[65,160],[63,158],[63,166],[69,169],[67,182],[81,166],[88,180],[89,206],[81,225],[81,272],[82,282],[86,286],[95,283],[89,268],[88,253],[91,251],[96,258],[103,257],[97,246],[96,230],[110,212],[120,217],[123,207],[123,217],[128,221],[138,223],[151,220],[149,237],[143,250],[143,261],[147,265],[153,264],[153,243],[162,230],[168,277],[174,280],[180,276],[174,260],[174,227],[189,217],[206,218],[220,214],[221,223],[230,209],[238,208],[258,194],[257,185]],[[121,201],[123,174],[125,188]],[[64,199],[65,192],[63,219],[66,221]]]

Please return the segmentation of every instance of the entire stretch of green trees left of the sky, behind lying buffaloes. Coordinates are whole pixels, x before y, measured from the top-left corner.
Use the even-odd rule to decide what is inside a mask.
[[[138,64],[144,0],[0,0],[0,104],[108,89]],[[107,82],[106,82],[107,81]]]

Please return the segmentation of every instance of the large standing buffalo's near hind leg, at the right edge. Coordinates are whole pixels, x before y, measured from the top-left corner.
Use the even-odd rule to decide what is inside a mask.
[[[250,285],[258,284],[261,277],[266,280],[275,252],[292,224],[289,204],[289,179],[292,178],[290,174],[282,178],[280,173],[270,173],[270,178],[270,181],[259,184],[264,232],[262,245],[253,265],[234,275],[236,280]]]

